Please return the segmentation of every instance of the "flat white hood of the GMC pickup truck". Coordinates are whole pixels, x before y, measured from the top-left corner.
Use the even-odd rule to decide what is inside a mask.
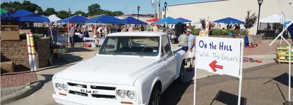
[[[158,64],[153,58],[97,56],[58,72],[55,78],[101,84],[133,85]]]

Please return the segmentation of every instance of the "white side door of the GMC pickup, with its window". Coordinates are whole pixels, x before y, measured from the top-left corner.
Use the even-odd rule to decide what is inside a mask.
[[[170,46],[170,41],[167,36],[162,37],[162,62],[166,66],[166,86],[168,87],[175,78],[176,73],[176,58]]]

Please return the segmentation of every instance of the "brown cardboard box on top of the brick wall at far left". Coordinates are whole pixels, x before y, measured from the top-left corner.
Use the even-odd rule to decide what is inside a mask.
[[[1,25],[1,40],[20,40],[18,25]]]

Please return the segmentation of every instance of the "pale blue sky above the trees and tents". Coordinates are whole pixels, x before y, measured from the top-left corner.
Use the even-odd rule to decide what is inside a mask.
[[[1,0],[2,2],[9,1],[20,1],[24,0]],[[28,0],[32,3],[36,3],[43,10],[46,8],[54,8],[55,11],[66,10],[70,7],[70,11],[74,13],[75,11],[81,10],[83,12],[88,12],[87,7],[91,4],[98,3],[102,9],[110,11],[122,11],[125,14],[137,14],[137,6],[140,6],[139,14],[154,14],[154,8],[151,5],[152,0]],[[157,0],[156,0],[157,1]],[[194,2],[204,2],[204,1],[214,1],[214,0],[161,0],[161,11],[163,10],[164,3],[167,5],[177,5],[185,3]],[[168,8],[168,7],[167,7]],[[183,10],[187,10],[184,8]]]

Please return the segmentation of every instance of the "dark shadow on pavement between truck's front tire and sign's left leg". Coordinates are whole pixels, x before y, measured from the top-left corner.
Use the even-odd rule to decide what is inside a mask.
[[[162,94],[162,105],[177,105],[181,100],[185,90],[191,84],[192,81],[184,82],[183,84],[172,83]]]

